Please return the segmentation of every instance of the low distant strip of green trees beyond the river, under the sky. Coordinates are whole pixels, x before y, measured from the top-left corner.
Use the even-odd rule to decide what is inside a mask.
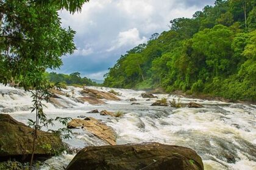
[[[45,77],[52,83],[60,83],[62,85],[69,85],[69,86],[99,86],[98,83],[90,80],[87,77],[80,77],[79,72],[74,72],[69,75],[62,74],[62,73],[55,73],[55,72],[46,72]]]

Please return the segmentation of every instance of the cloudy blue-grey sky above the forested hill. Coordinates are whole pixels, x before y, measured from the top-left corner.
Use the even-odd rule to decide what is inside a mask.
[[[214,0],[90,0],[82,12],[59,12],[62,26],[76,31],[77,50],[63,56],[54,72],[80,72],[82,77],[103,80],[109,67],[127,50],[147,42],[153,33],[169,30],[174,18],[191,18]]]

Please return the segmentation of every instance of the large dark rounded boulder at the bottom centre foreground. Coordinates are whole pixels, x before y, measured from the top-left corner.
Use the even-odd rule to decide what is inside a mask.
[[[169,169],[202,170],[201,157],[190,148],[160,143],[89,146],[82,149],[66,170]]]

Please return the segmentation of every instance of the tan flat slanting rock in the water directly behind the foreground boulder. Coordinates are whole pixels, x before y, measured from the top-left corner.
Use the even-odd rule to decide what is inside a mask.
[[[116,144],[116,133],[112,127],[107,126],[105,123],[99,122],[96,118],[88,117],[84,120],[74,118],[68,123],[68,128],[82,127],[85,131],[90,132],[101,140],[109,144]]]

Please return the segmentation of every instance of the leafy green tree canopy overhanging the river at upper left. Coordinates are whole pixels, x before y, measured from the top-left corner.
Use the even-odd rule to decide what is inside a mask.
[[[47,68],[76,47],[74,31],[63,29],[58,10],[79,11],[87,0],[0,0],[0,83],[37,86]]]

